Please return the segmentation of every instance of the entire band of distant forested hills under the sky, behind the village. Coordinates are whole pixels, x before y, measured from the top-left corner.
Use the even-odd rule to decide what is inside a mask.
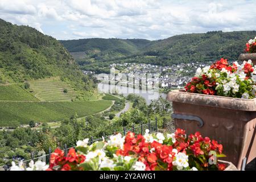
[[[220,57],[236,60],[245,49],[245,43],[255,36],[256,31],[211,31],[204,34],[176,35],[156,41],[81,39],[61,41],[61,43],[68,51],[72,52],[80,65],[92,64],[95,66],[97,63],[113,63],[113,61],[115,63],[137,62],[170,65],[189,61],[213,61]],[[129,48],[130,51],[124,52],[124,46],[113,42],[127,43],[131,47]],[[104,49],[102,46],[106,48]],[[126,46],[126,50],[129,46]],[[74,53],[77,51],[83,51],[84,54]]]

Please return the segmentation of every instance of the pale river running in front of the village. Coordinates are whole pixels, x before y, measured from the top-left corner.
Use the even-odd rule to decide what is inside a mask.
[[[147,105],[150,104],[152,100],[157,100],[160,96],[166,98],[167,94],[159,93],[157,90],[140,90],[138,88],[120,86],[120,85],[109,85],[105,83],[98,84],[98,92],[100,93],[114,93],[114,91],[118,94],[123,94],[123,96],[128,96],[129,94],[138,94],[142,96]]]

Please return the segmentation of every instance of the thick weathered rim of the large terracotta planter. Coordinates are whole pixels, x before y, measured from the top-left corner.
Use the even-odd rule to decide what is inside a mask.
[[[233,110],[256,111],[256,98],[243,99],[222,96],[210,96],[199,93],[188,93],[184,89],[171,90],[167,100],[187,104],[220,107]]]

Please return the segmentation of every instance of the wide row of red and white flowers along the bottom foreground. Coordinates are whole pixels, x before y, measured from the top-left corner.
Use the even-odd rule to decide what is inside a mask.
[[[172,170],[224,170],[217,158],[223,157],[222,145],[216,140],[203,138],[200,133],[189,135],[177,129],[173,134],[144,135],[127,133],[113,135],[108,141],[88,145],[89,139],[79,140],[75,151],[67,156],[56,149],[51,154],[49,166],[42,162],[31,162],[27,170],[93,170],[93,171],[172,171]],[[25,170],[22,165],[13,170]]]

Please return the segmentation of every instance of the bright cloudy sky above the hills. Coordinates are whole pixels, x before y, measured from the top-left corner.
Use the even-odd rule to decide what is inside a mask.
[[[0,18],[56,39],[143,38],[256,30],[254,0],[0,0]]]

